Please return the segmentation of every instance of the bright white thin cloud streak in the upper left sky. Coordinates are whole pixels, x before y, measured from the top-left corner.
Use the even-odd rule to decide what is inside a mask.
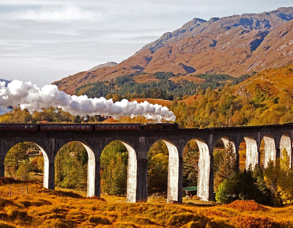
[[[99,20],[102,14],[86,10],[77,6],[55,6],[30,9],[21,12],[10,13],[11,20],[35,20],[35,21],[72,21],[72,20]]]

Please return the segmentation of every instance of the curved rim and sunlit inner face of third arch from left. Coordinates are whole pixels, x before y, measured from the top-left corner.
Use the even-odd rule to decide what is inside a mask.
[[[116,140],[112,140],[102,147],[97,158],[99,161],[105,147],[113,141]],[[120,139],[117,139],[117,141],[122,142],[128,151],[126,201],[127,203],[135,203],[137,195],[137,154],[129,142]]]

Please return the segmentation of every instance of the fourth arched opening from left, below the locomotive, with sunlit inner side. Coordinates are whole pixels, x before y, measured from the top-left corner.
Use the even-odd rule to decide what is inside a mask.
[[[179,156],[169,140],[156,141],[148,151],[148,192],[167,190],[167,202],[179,200]]]

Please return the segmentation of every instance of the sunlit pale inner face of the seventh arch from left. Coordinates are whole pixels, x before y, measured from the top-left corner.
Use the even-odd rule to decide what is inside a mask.
[[[256,140],[251,135],[246,135],[244,138],[246,144],[246,159],[245,159],[245,168],[248,170],[249,165],[252,165],[252,169],[255,164],[258,164],[258,147]]]

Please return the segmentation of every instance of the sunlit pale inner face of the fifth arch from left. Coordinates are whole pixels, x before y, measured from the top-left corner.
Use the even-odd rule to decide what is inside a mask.
[[[199,149],[198,174],[197,174],[197,196],[203,201],[212,200],[213,186],[210,184],[211,156],[207,143],[200,138],[193,138]],[[211,189],[210,189],[211,188]]]

